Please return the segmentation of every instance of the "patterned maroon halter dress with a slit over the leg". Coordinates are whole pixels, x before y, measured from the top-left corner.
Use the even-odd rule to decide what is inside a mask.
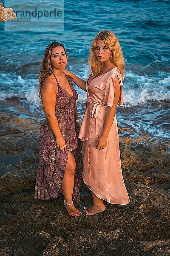
[[[57,148],[56,139],[48,124],[48,119],[45,119],[40,128],[39,166],[37,170],[34,199],[46,200],[57,197],[65,172],[68,151],[71,151],[76,161],[73,197],[75,201],[80,201],[79,187],[82,180],[82,166],[80,162],[81,145],[78,142],[75,130],[74,106],[74,102],[78,99],[78,95],[71,79],[67,76],[66,78],[73,91],[72,98],[66,90],[59,85],[57,78],[55,77],[58,85],[55,115],[58,120],[61,134],[65,139],[66,151],[63,153]]]

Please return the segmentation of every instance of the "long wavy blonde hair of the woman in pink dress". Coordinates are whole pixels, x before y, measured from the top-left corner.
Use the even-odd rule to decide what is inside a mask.
[[[99,32],[94,38],[94,41],[91,45],[88,62],[92,76],[98,76],[101,68],[101,63],[96,58],[95,54],[96,44],[99,40],[102,40],[105,43],[105,46],[107,46],[111,50],[110,61],[119,68],[123,81],[125,73],[125,59],[123,57],[122,48],[119,44],[118,39],[116,38],[116,35],[109,30],[103,30]]]

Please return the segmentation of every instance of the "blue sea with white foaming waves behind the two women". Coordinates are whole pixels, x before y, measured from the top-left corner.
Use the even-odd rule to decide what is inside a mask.
[[[62,17],[40,17],[28,27],[23,22],[0,23],[0,111],[42,121],[37,78],[47,45],[52,41],[64,44],[68,69],[86,79],[94,36],[101,30],[111,30],[122,46],[126,63],[124,106],[118,107],[116,116],[118,125],[128,129],[120,135],[169,138],[170,2],[65,0],[60,6],[56,2],[3,2],[14,11],[18,5],[24,11],[42,10],[42,6],[43,11],[60,8]],[[75,88],[82,118],[86,93]]]

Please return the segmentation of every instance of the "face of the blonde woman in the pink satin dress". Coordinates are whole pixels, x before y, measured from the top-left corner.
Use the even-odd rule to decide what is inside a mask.
[[[107,61],[111,56],[111,50],[105,46],[102,40],[98,40],[95,49],[96,58],[100,62]]]

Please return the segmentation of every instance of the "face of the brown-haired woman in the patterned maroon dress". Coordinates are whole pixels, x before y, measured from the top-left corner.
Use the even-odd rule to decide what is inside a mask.
[[[54,47],[51,50],[52,67],[57,69],[64,69],[67,65],[67,55],[62,46]]]

